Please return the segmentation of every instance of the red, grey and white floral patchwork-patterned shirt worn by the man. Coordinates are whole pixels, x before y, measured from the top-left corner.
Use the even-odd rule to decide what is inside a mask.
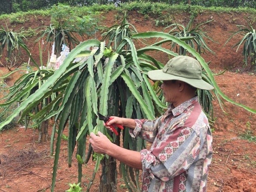
[[[142,192],[205,192],[212,133],[198,98],[170,104],[158,119],[135,121],[131,136],[152,143],[140,152]]]

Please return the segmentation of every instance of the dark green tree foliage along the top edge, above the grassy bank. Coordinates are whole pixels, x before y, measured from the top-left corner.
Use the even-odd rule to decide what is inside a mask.
[[[256,8],[255,0],[0,0],[0,15],[1,14],[10,14],[15,12],[27,12],[31,10],[39,10],[39,9],[48,9],[53,5],[58,3],[70,5],[70,6],[89,6],[89,5],[107,5],[114,4],[115,6],[119,6],[122,3],[131,3],[131,2],[139,2],[139,3],[167,3],[169,5],[199,5],[203,7],[248,7],[248,8]]]

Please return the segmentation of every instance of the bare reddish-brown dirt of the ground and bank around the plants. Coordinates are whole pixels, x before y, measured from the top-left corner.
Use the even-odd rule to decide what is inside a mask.
[[[108,12],[104,18],[104,25],[111,26],[118,21],[114,20],[116,12]],[[112,17],[111,17],[112,15]],[[142,15],[131,13],[130,23],[136,26],[139,32],[149,30],[162,30],[156,27],[154,19],[145,19]],[[104,16],[104,14],[103,14]],[[175,15],[177,22],[186,23],[189,18],[186,14]],[[203,55],[210,63],[213,72],[227,71],[215,80],[221,90],[229,98],[250,108],[256,108],[256,74],[243,68],[241,50],[237,53],[232,49],[239,39],[230,41],[227,46],[223,44],[229,38],[229,31],[236,31],[236,24],[245,24],[246,14],[199,14],[196,22],[206,21],[213,17],[211,24],[205,30],[213,40],[219,44],[207,41],[215,55]],[[47,24],[49,20],[43,19]],[[24,23],[25,27],[41,24],[41,21],[32,20]],[[14,27],[20,27],[18,24]],[[254,26],[255,28],[255,26]],[[139,44],[138,44],[139,46]],[[30,47],[33,47],[32,44]],[[37,46],[32,48],[32,55],[38,55]],[[154,55],[154,53],[152,53]],[[47,55],[47,53],[46,53]],[[163,63],[168,58],[155,54],[155,58]],[[0,67],[0,76],[7,70]],[[14,74],[7,79],[6,84],[11,86],[17,76]],[[0,93],[1,94],[1,93]],[[242,134],[256,135],[256,114],[252,114],[241,107],[223,101],[224,113],[217,101],[213,102],[214,116],[216,117],[213,129],[213,161],[207,183],[208,192],[256,192],[256,143],[241,139]],[[49,130],[51,133],[51,130]],[[248,135],[247,134],[247,135]],[[49,142],[37,143],[36,130],[25,130],[22,125],[11,130],[0,132],[0,191],[2,192],[39,192],[50,191],[54,157],[49,154]],[[73,158],[72,168],[67,165],[67,141],[62,141],[56,178],[56,192],[67,190],[68,183],[77,182],[77,161]],[[82,187],[86,186],[93,172],[94,162],[83,166]],[[99,174],[90,191],[99,190]],[[118,192],[126,192],[122,178],[118,178]]]

